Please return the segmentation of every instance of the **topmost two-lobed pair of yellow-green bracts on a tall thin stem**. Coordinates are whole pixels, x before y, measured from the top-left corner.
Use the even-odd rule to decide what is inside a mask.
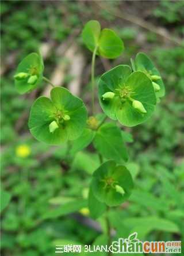
[[[124,50],[124,43],[112,29],[104,28],[96,20],[86,23],[82,31],[83,42],[90,51],[105,58],[117,58]]]

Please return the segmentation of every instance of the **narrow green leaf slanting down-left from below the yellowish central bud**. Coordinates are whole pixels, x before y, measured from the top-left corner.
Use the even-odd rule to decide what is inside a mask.
[[[89,146],[89,144],[92,142],[94,135],[95,132],[91,129],[84,129],[82,135],[72,142],[70,153],[75,154],[76,152],[85,149],[85,147]]]

